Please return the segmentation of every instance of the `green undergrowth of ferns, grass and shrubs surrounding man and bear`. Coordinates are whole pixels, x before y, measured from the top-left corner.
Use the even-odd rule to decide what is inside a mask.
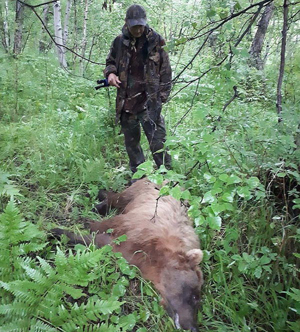
[[[0,331],[173,331],[155,289],[120,254],[50,236],[100,221],[98,189],[120,190],[131,175],[113,89],[95,92],[45,56],[0,58]],[[264,80],[244,63],[164,105],[172,170],[153,170],[143,136],[136,177],[168,179],[161,194],[188,200],[204,252],[200,331],[297,332],[299,100],[286,100],[278,123],[272,64]]]

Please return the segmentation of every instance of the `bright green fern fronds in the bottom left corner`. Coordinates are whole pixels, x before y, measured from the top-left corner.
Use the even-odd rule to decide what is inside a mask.
[[[108,322],[124,304],[119,297],[128,281],[115,273],[124,260],[104,246],[75,252],[56,247],[50,261],[32,254],[43,254],[43,238],[13,202],[0,214],[0,332],[119,331]]]

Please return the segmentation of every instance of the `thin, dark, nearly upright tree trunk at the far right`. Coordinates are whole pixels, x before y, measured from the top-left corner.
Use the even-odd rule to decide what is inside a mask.
[[[286,46],[286,32],[287,32],[287,14],[288,14],[288,0],[284,0],[283,3],[283,27],[282,27],[282,39],[281,39],[281,52],[280,52],[280,68],[279,68],[279,77],[278,77],[278,83],[277,83],[277,114],[279,121],[280,113],[282,110],[281,106],[281,85],[283,80],[283,72],[284,72],[284,62],[285,62],[285,46]]]

